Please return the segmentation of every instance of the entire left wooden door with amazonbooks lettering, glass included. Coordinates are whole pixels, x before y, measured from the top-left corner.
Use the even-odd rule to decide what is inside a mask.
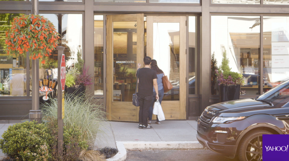
[[[107,118],[138,122],[132,94],[137,64],[144,58],[144,14],[107,15],[106,22]]]

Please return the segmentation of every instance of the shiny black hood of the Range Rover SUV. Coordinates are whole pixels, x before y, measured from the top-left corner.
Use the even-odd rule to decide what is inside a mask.
[[[253,114],[274,114],[274,109],[274,106],[265,102],[253,99],[238,99],[210,105],[205,109],[205,112],[220,117],[243,117]]]

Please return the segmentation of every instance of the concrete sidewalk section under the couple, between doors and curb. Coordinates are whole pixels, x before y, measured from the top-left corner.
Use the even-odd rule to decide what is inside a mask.
[[[152,121],[152,129],[138,129],[138,123],[110,122],[115,141],[197,141],[197,122],[164,120]]]

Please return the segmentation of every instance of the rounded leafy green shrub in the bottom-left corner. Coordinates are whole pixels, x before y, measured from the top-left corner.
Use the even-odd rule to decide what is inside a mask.
[[[52,144],[53,138],[49,129],[42,123],[26,121],[14,124],[8,127],[2,137],[2,152],[17,160],[46,161],[51,157],[49,145]]]

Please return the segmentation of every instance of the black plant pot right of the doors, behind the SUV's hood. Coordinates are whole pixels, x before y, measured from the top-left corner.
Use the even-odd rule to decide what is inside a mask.
[[[219,86],[220,102],[232,101],[240,99],[241,85],[225,85]]]

